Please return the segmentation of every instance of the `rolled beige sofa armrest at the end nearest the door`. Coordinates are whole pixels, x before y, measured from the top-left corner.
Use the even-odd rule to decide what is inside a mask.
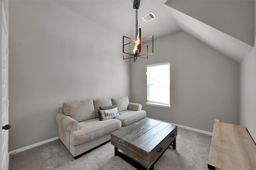
[[[72,117],[64,115],[63,113],[58,113],[55,120],[58,125],[60,125],[68,133],[79,130],[78,122]]]

